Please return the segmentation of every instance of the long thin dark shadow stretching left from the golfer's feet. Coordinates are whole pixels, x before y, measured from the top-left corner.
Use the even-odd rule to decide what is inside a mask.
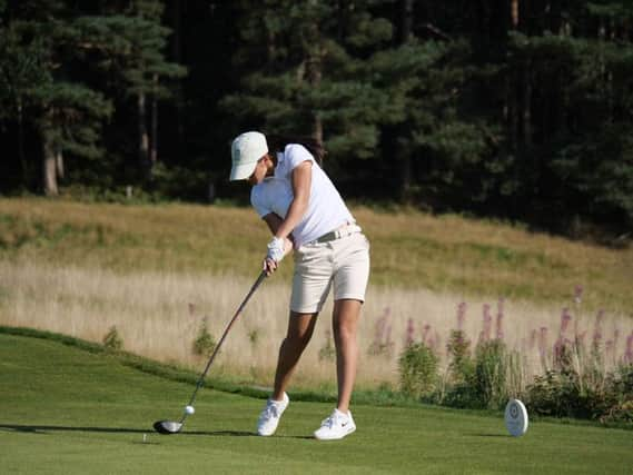
[[[18,424],[0,424],[0,431],[7,432],[23,432],[30,434],[47,435],[55,432],[92,432],[105,434],[156,434],[154,428],[129,428],[129,427],[82,427],[82,426],[53,426],[53,425],[18,425]],[[156,434],[164,436],[164,434]],[[207,436],[222,436],[222,437],[259,437],[254,432],[246,431],[184,431],[178,434],[179,436],[188,435],[207,435]],[[285,438],[301,438],[311,439],[308,436],[277,436]]]

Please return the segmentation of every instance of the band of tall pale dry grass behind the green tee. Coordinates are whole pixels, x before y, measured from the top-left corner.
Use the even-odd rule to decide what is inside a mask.
[[[199,369],[204,358],[194,355],[192,344],[204,319],[217,339],[255,278],[169,271],[121,274],[101,267],[4,260],[0,261],[0,324],[59,331],[93,342],[101,342],[109,328],[116,326],[125,349]],[[214,373],[269,385],[287,325],[288,299],[288,279],[284,276],[268,279],[231,329]],[[484,311],[485,305],[489,307]],[[397,357],[407,339],[424,339],[446,365],[445,345],[451,329],[462,325],[473,345],[482,331],[495,336],[497,305],[489,300],[464,300],[454,293],[370,286],[359,333],[358,384],[395,385]],[[462,323],[457,318],[459,309]],[[328,346],[330,311],[332,299],[301,359],[295,378],[300,386],[332,385],[335,380],[334,360],[323,359],[322,352]],[[560,333],[561,311],[558,306],[503,303],[503,338],[521,355],[523,377],[515,383],[517,386],[541,374],[544,365],[552,365],[551,349]],[[567,311],[576,333],[594,331],[596,316],[585,311],[582,301],[570,301]],[[633,321],[624,314],[606,311],[600,330],[603,343],[611,342],[612,356],[605,365],[612,366],[625,352]]]

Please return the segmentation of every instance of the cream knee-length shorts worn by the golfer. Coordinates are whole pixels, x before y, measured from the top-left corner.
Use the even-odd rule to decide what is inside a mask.
[[[369,279],[369,241],[362,232],[306,244],[295,250],[290,310],[319,313],[334,285],[334,299],[365,301]]]

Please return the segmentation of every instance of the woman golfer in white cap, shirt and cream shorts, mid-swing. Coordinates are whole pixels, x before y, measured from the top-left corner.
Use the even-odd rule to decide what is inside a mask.
[[[279,348],[275,388],[259,416],[257,433],[269,436],[277,429],[289,403],[290,376],[334,287],[338,404],[314,433],[325,441],[356,431],[349,399],[358,359],[356,333],[369,277],[369,244],[308,148],[320,159],[323,149],[314,144],[279,144],[269,150],[263,133],[243,133],[231,146],[230,179],[249,181],[253,207],[273,234],[263,263],[266,274],[273,274],[294,249],[288,330]]]

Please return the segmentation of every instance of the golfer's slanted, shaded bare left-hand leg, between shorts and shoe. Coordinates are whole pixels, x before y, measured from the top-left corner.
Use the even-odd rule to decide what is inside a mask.
[[[313,336],[317,315],[318,314],[297,314],[290,311],[288,331],[279,348],[273,399],[281,400],[284,398],[284,392],[288,387],[288,383],[297,367],[299,357]]]

